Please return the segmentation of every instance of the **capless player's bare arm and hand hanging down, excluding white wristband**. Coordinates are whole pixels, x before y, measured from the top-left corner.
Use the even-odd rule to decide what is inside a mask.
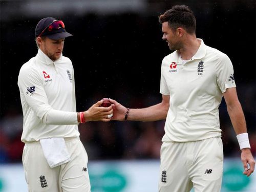
[[[242,106],[238,100],[236,88],[226,89],[226,92],[223,94],[223,96],[227,104],[228,115],[231,119],[234,131],[236,132],[238,137],[239,135],[242,136],[241,134],[247,136],[247,134],[245,134],[247,133],[245,117],[242,110]],[[249,146],[245,148],[242,147],[241,151],[241,160],[244,165],[243,174],[249,177],[254,171],[255,161],[253,159]],[[248,168],[247,163],[250,165],[250,168]]]

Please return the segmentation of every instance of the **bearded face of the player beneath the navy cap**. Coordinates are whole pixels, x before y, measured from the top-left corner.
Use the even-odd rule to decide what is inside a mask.
[[[64,40],[65,38],[53,40],[46,37],[44,40],[41,41],[40,49],[50,59],[55,61],[61,56],[64,47]]]

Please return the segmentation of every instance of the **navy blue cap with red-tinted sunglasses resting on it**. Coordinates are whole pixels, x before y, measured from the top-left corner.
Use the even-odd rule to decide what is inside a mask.
[[[41,32],[44,31],[44,29],[46,29],[55,20],[58,20],[58,19],[53,17],[46,17],[41,19],[35,27],[35,36],[38,37],[41,34]],[[59,28],[59,29],[54,29],[52,31],[49,31],[46,29],[40,36],[46,36],[50,39],[57,40],[57,39],[62,39],[62,38],[66,38],[73,35],[68,33],[66,29]]]

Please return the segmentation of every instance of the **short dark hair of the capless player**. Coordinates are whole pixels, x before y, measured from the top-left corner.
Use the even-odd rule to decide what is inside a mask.
[[[196,33],[196,17],[186,5],[176,5],[159,16],[159,23],[168,22],[168,26],[176,30],[182,27],[187,33]]]

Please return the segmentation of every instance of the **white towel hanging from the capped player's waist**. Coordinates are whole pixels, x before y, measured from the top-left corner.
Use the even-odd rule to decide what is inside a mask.
[[[70,161],[71,158],[63,138],[40,139],[40,143],[51,168]]]

